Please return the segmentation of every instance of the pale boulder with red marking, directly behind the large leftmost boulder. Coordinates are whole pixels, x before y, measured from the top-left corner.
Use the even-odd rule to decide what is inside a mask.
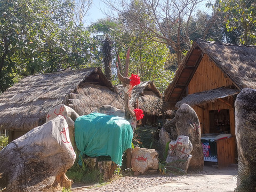
[[[63,116],[68,123],[68,131],[71,144],[76,151],[75,143],[75,121],[79,115],[76,111],[64,104],[53,107],[49,113],[46,115],[46,123],[57,117],[58,115]]]

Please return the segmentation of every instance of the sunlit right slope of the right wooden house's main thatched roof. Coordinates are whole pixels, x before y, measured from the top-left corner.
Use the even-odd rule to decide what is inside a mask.
[[[203,53],[216,63],[239,88],[256,89],[256,46],[196,41]]]

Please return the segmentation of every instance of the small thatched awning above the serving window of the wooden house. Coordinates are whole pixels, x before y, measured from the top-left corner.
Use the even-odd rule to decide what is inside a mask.
[[[187,103],[190,106],[204,105],[207,102],[214,102],[217,99],[226,98],[234,94],[238,94],[240,91],[235,89],[229,89],[227,87],[220,87],[213,90],[203,91],[199,93],[193,93],[187,95],[181,101],[177,102],[175,107],[179,108],[183,103]]]

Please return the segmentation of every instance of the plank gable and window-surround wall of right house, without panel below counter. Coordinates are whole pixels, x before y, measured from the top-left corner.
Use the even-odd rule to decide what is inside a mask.
[[[233,82],[210,60],[208,55],[204,54],[188,85],[188,94],[232,85]],[[206,103],[203,106],[191,107],[196,111],[202,133],[210,133],[209,110],[228,109],[230,111],[230,131],[233,136],[235,135],[234,99],[232,97]]]

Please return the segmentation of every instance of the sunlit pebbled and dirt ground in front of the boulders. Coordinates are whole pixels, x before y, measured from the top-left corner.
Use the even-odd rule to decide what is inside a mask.
[[[139,175],[122,177],[102,186],[74,184],[72,191],[175,191],[175,192],[231,192],[236,188],[237,166],[225,169],[204,166],[203,171],[174,175]]]

